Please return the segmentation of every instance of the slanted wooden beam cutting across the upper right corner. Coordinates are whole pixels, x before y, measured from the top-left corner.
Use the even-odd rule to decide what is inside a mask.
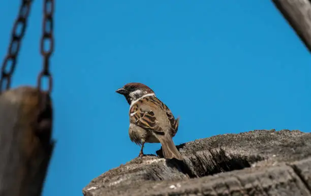
[[[311,52],[310,0],[272,0]]]

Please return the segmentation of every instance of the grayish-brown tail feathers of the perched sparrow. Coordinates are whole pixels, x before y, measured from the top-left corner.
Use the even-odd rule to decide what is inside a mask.
[[[182,160],[182,156],[177,150],[170,135],[160,136],[158,139],[162,145],[164,158],[176,158],[178,160]]]

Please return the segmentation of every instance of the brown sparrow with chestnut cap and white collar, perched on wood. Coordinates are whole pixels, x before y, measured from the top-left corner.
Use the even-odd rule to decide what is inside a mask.
[[[164,158],[182,160],[172,140],[178,130],[179,118],[174,118],[154,91],[142,83],[133,82],[116,92],[124,95],[130,105],[129,136],[132,142],[141,146],[139,157],[143,156],[145,143],[161,143]]]

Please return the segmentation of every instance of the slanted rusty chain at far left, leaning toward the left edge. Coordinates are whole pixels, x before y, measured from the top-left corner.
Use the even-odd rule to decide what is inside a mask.
[[[11,87],[11,78],[16,67],[21,41],[25,35],[27,19],[32,2],[32,0],[22,0],[22,4],[19,8],[18,17],[16,18],[12,29],[8,54],[2,63],[0,93],[2,93],[4,90],[10,89]]]

